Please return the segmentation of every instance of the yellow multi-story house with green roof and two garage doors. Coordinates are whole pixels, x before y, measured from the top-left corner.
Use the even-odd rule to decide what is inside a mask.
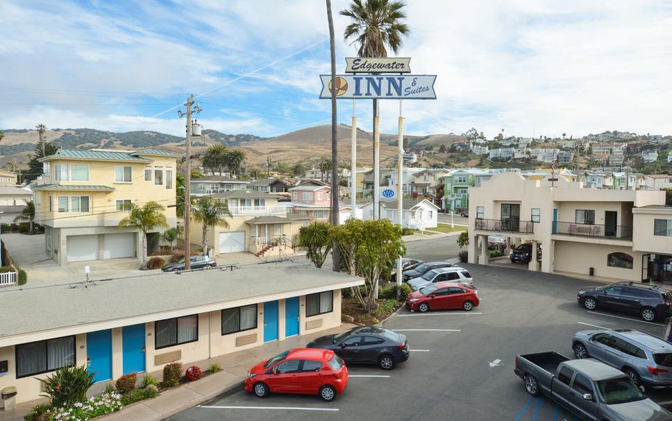
[[[44,226],[45,250],[61,266],[69,261],[140,258],[142,237],[119,228],[131,204],[153,200],[176,225],[176,153],[60,149],[42,158],[45,175],[33,185],[35,222]],[[164,228],[158,228],[162,232]]]

